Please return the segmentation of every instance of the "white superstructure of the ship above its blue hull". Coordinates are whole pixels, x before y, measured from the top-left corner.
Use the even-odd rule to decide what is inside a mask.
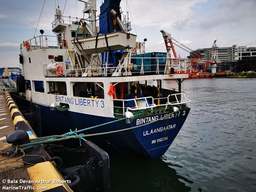
[[[84,13],[91,13],[90,6],[94,1],[85,4]],[[93,18],[93,17],[92,17]],[[91,19],[92,19],[91,18]],[[138,110],[155,108],[159,106],[177,105],[190,102],[187,93],[183,92],[182,82],[188,78],[187,66],[190,60],[182,58],[136,58],[141,64],[135,66],[132,63],[132,48],[136,47],[136,35],[128,31],[116,31],[109,34],[98,34],[99,27],[96,22],[91,24],[84,19],[61,15],[57,9],[55,20],[52,22],[52,31],[56,36],[44,36],[43,34],[22,44],[23,71],[26,81],[24,96],[27,100],[50,106],[52,103],[66,104],[69,111],[115,117],[115,108],[120,113],[126,110]],[[94,19],[95,20],[95,19]],[[119,20],[118,20],[119,21]],[[94,26],[95,25],[95,26]],[[126,29],[125,29],[126,30]],[[95,46],[96,42],[98,43]],[[29,45],[28,45],[29,44]],[[117,66],[108,63],[108,51],[124,49],[123,56]],[[155,70],[150,74],[144,72],[143,62],[145,59],[155,59]],[[164,70],[159,68],[159,60],[166,59]],[[172,66],[182,69],[172,71]],[[110,67],[113,66],[113,67]],[[141,68],[137,70],[138,66]],[[164,88],[164,79],[176,79],[179,83],[179,91]],[[112,85],[120,88],[120,83],[125,83],[128,91],[132,92],[132,86],[138,82],[148,85],[148,81],[156,80],[162,90],[162,96],[139,98],[134,97],[135,106],[127,108],[124,103],[128,100],[114,99],[109,95]],[[112,87],[113,88],[113,87]],[[158,89],[159,92],[159,89]],[[171,94],[173,93],[173,94]],[[176,100],[172,100],[174,97]],[[146,98],[146,99],[145,99]],[[138,100],[149,100],[150,104],[137,105]],[[167,100],[163,104],[161,100]],[[116,106],[116,101],[120,101]],[[161,103],[161,104],[160,104]]]

